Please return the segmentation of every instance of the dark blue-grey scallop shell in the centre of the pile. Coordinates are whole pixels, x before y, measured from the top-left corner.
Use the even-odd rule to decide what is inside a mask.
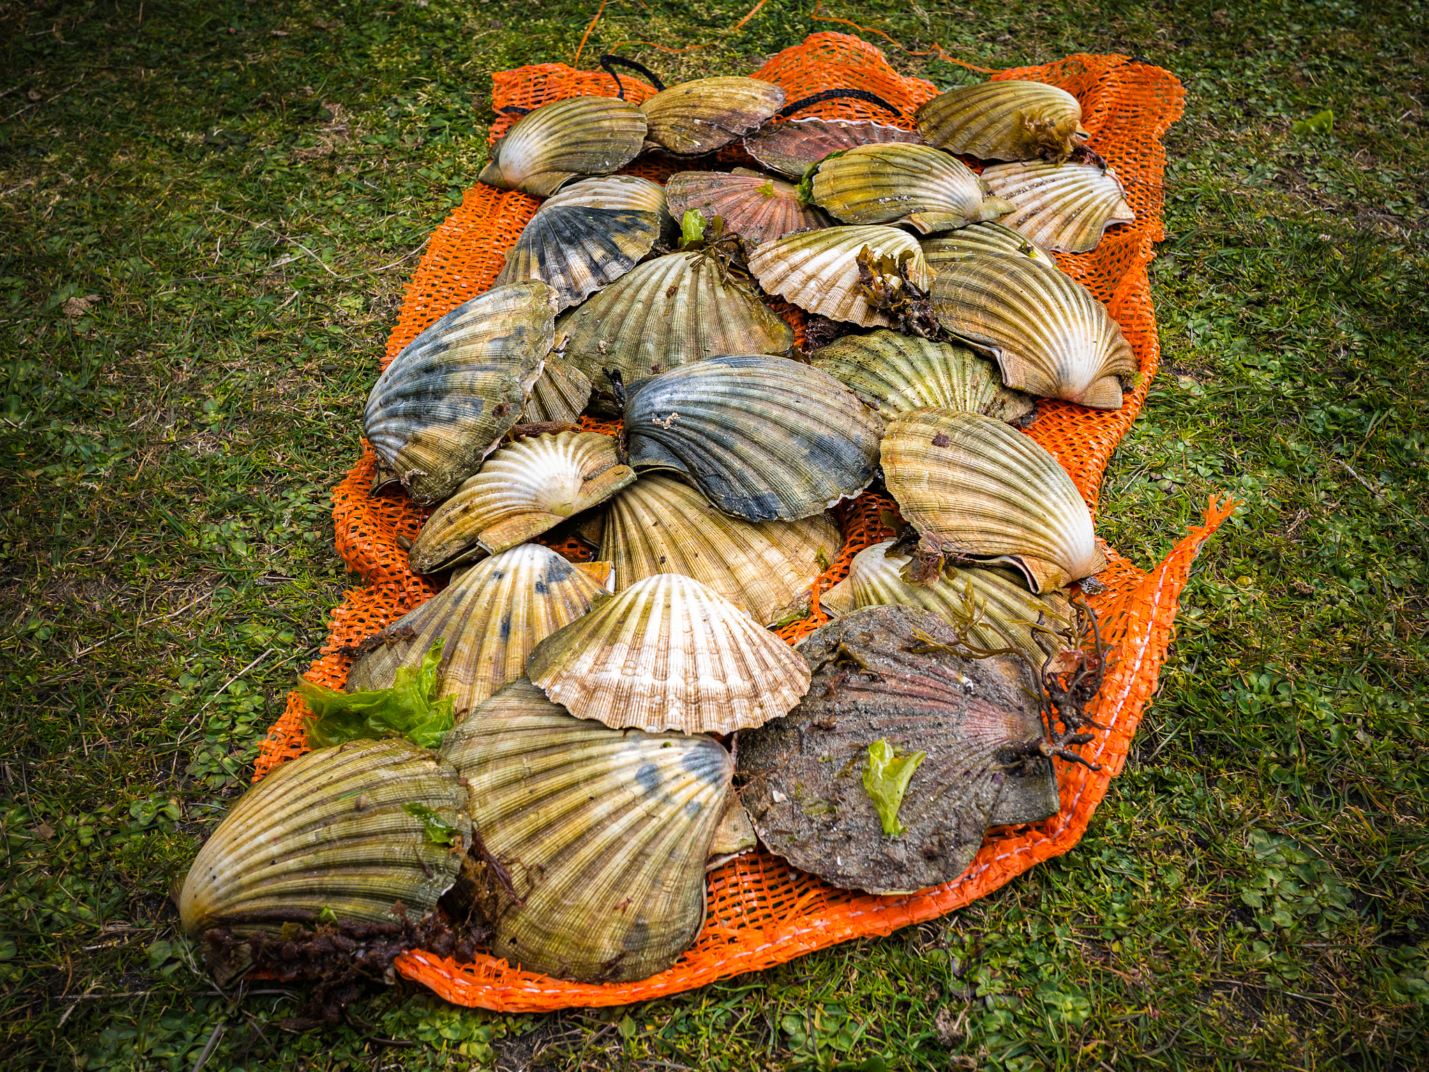
[[[819,369],[727,354],[630,389],[630,465],[693,480],[726,513],[752,522],[823,513],[869,486],[883,422]]]

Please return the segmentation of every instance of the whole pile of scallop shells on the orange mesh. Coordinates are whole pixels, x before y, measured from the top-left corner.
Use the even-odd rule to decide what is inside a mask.
[[[359,949],[437,913],[527,971],[633,981],[696,941],[736,855],[910,892],[1057,812],[1106,560],[1017,429],[1036,397],[1117,409],[1136,374],[1049,252],[1132,220],[1123,190],[1040,83],[952,90],[916,131],[785,104],[704,79],[556,101],[496,143],[482,182],[546,200],[364,415],[379,483],[436,506],[412,569],[450,580],[346,692],[304,683],[319,748],[183,885],[210,952]],[[646,150],[717,167],[737,139],[765,170],[613,174]],[[820,596],[832,507],[870,486],[899,536]],[[812,600],[830,620],[790,647],[772,630]]]

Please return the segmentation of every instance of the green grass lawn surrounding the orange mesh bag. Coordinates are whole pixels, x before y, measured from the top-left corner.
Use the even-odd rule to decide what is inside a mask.
[[[594,4],[0,4],[0,1062],[1423,1068],[1426,10],[836,0],[912,50],[1133,53],[1189,90],[1166,363],[1100,529],[1149,566],[1210,492],[1245,506],[1133,762],[1076,850],[936,923],[606,1012],[373,986],[294,1033],[292,991],[210,985],[166,893],[353,583],[327,493],[489,73],[570,60]],[[583,61],[747,71],[847,29],[745,13],[614,0]]]

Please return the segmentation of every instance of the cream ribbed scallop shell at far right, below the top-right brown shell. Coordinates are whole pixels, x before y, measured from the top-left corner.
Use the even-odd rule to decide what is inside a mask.
[[[993,164],[983,170],[983,179],[1016,206],[1003,223],[1047,249],[1086,253],[1113,223],[1136,222],[1110,167],[1033,160]]]

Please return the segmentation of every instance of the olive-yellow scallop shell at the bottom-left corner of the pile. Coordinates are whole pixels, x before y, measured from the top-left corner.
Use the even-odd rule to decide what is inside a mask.
[[[450,828],[446,843],[427,836],[422,809]],[[312,925],[324,909],[392,922],[399,900],[420,919],[470,843],[466,789],[449,762],[406,740],[354,740],[283,763],[239,798],[189,868],[179,916],[194,936]]]

